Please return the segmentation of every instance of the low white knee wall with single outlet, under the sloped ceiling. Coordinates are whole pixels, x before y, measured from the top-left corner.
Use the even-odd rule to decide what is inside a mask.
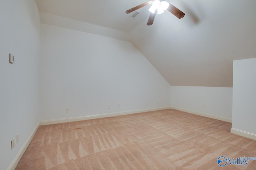
[[[172,86],[171,94],[172,107],[232,118],[232,88]]]

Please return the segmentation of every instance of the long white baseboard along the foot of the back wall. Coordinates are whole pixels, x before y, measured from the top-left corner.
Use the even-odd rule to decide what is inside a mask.
[[[64,118],[64,119],[45,120],[45,121],[40,121],[39,125],[51,125],[51,124],[56,124],[56,123],[66,123],[66,122],[72,122],[72,121],[98,119],[98,118],[102,118],[102,117],[128,115],[128,114],[133,114],[133,113],[142,113],[142,112],[147,112],[147,111],[156,111],[156,110],[164,110],[164,109],[170,109],[170,107],[169,106],[168,107],[157,107],[157,108],[151,108],[151,109],[139,109],[139,110],[132,110],[132,111],[122,111],[122,112],[104,113],[104,114],[88,115],[88,116],[80,116],[80,117],[70,117],[70,118]]]

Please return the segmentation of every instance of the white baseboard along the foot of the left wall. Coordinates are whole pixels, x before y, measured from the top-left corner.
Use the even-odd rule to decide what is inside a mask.
[[[30,144],[31,140],[33,139],[37,129],[39,127],[39,122],[36,124],[36,127],[33,129],[33,131],[30,133],[28,139],[25,141],[24,145],[21,147],[20,151],[18,152],[18,154],[15,156],[14,160],[12,161],[12,163],[10,164],[10,166],[8,167],[7,170],[14,170],[17,166],[17,164],[20,161],[20,158],[22,157],[22,155],[24,154],[24,152],[26,151],[26,149],[28,148],[28,145]]]

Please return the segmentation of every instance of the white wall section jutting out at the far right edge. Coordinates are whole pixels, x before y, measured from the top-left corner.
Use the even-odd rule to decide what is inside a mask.
[[[232,128],[256,135],[256,58],[234,61]]]

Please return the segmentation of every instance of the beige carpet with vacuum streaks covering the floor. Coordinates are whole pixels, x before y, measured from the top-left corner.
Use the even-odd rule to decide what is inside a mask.
[[[16,170],[256,169],[221,167],[220,156],[256,156],[231,123],[174,109],[40,126]]]

